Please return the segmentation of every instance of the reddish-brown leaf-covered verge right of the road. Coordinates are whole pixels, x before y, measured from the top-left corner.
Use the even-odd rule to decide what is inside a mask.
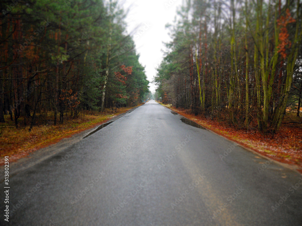
[[[263,135],[257,129],[238,129],[226,122],[212,120],[201,114],[195,116],[190,109],[176,109],[171,104],[162,105],[243,147],[278,162],[296,166],[295,168],[302,173],[302,125],[289,123],[300,122],[296,113],[287,115],[273,138],[271,135]]]

